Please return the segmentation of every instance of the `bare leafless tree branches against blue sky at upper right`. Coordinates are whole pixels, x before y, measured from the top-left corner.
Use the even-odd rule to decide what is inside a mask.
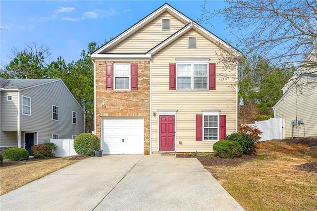
[[[260,55],[278,68],[295,67],[299,75],[317,74],[317,0],[225,2],[212,11],[205,0],[201,21],[224,16],[234,35],[230,44],[244,55]]]

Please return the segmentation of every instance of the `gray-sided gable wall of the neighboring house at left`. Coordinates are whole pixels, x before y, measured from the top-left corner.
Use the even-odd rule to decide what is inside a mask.
[[[22,134],[38,132],[39,143],[43,143],[52,138],[53,133],[58,134],[59,139],[71,139],[72,135],[84,132],[83,110],[61,81],[23,90],[20,98],[22,95],[31,98],[31,116],[22,115],[20,108]],[[58,106],[58,121],[52,118],[52,105]],[[77,124],[72,123],[72,111],[77,112]]]

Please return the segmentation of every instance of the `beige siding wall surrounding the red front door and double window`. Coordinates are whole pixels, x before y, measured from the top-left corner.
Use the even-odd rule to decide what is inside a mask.
[[[197,48],[188,48],[188,36],[197,37]],[[214,141],[196,141],[196,114],[202,110],[221,110],[226,115],[226,133],[236,130],[237,92],[236,70],[225,69],[219,60],[220,50],[209,40],[192,30],[153,56],[152,63],[152,150],[158,152],[158,109],[176,112],[176,152],[212,152]],[[216,90],[169,90],[169,63],[175,58],[211,58],[216,63]],[[189,59],[190,60],[190,59]],[[220,74],[227,74],[228,79]],[[182,145],[179,142],[182,141]]]

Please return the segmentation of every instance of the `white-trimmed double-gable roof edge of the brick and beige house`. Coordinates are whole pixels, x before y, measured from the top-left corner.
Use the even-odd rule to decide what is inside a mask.
[[[175,32],[173,35],[171,35],[170,37],[168,37],[167,39],[165,39],[164,41],[159,43],[156,47],[149,50],[147,53],[129,53],[129,54],[128,53],[106,53],[107,49],[110,49],[113,46],[120,43],[121,41],[125,40],[126,38],[128,38],[129,36],[131,36],[132,34],[137,32],[141,28],[143,28],[145,25],[150,23],[152,20],[157,18],[160,14],[162,14],[165,11],[168,11],[174,17],[176,17],[177,19],[179,19],[180,21],[182,21],[183,23],[185,23],[187,25],[185,25],[182,29]],[[174,41],[180,35],[184,34],[189,29],[193,29],[193,28],[199,30],[201,33],[203,33],[205,35],[205,37],[208,37],[209,39],[213,39],[218,44],[221,44],[225,48],[227,48],[228,50],[233,51],[236,55],[242,55],[242,53],[239,52],[237,49],[230,46],[225,41],[223,41],[222,39],[220,39],[219,37],[217,37],[216,35],[214,35],[210,31],[208,31],[204,27],[200,26],[198,23],[196,23],[195,21],[193,21],[192,19],[190,19],[189,17],[187,17],[186,15],[184,15],[183,13],[181,13],[180,11],[178,11],[177,9],[175,9],[174,7],[169,5],[168,3],[164,3],[157,10],[155,10],[154,12],[152,12],[151,14],[149,14],[148,16],[146,16],[145,18],[143,18],[142,20],[140,20],[139,22],[137,22],[136,24],[134,24],[133,26],[128,28],[126,31],[122,32],[120,35],[118,35],[117,37],[115,37],[114,39],[109,41],[104,46],[97,49],[90,56],[92,58],[98,58],[98,57],[139,57],[139,58],[144,57],[144,58],[151,58],[152,53],[157,52],[158,50],[165,47],[170,42]],[[105,56],[105,54],[107,54],[107,55]]]

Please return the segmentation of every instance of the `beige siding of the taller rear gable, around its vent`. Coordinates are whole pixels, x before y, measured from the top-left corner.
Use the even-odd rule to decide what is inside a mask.
[[[170,19],[170,30],[162,30],[162,18]],[[146,53],[184,26],[183,22],[168,12],[164,12],[135,34],[107,51],[107,53]]]

